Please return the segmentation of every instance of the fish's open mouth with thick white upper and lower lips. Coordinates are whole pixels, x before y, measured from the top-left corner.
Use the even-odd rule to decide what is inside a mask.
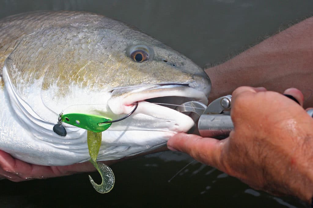
[[[141,122],[142,117],[145,117],[146,123],[151,121],[149,125],[141,126],[145,130],[158,129],[178,133],[189,131],[194,126],[194,121],[174,110],[175,107],[188,101],[199,101],[207,105],[207,94],[208,92],[190,87],[189,84],[153,84],[116,89],[112,92],[108,104],[113,113],[128,114],[133,110],[134,103],[138,102],[139,105],[128,122]]]

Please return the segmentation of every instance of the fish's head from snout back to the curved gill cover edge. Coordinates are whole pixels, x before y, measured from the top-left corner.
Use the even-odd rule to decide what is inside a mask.
[[[211,82],[203,69],[125,23],[86,19],[33,32],[7,58],[7,77],[28,113],[47,123],[56,123],[60,112],[118,119],[138,102],[131,116],[103,135],[107,146],[140,148],[116,157],[99,154],[105,160],[149,150],[187,132],[194,121],[174,108],[191,100],[208,103]]]

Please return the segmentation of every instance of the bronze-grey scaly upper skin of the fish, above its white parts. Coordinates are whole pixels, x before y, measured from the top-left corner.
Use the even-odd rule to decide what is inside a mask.
[[[49,88],[51,80],[59,78],[59,73],[63,74],[59,85],[64,82],[79,82],[93,90],[146,83],[172,83],[173,80],[184,83],[192,79],[190,74],[206,77],[201,68],[187,57],[177,55],[176,51],[162,42],[130,28],[125,23],[96,14],[30,12],[3,19],[0,28],[0,67],[3,67],[3,59],[10,54],[12,63],[8,64],[13,64],[18,69],[10,76],[14,76],[12,78],[17,82],[21,74],[23,75],[25,82],[23,85],[19,84],[21,88],[29,87],[34,79],[45,74],[49,79],[44,80],[42,87]],[[20,43],[21,39],[23,41]],[[125,59],[127,50],[138,44],[154,46],[153,62],[138,64],[129,58]],[[15,51],[12,54],[13,49]],[[157,58],[159,60],[156,61]],[[167,64],[162,58],[168,61]],[[172,67],[172,64],[176,67]],[[36,66],[35,71],[33,66]],[[81,70],[86,66],[88,71]],[[128,71],[128,80],[123,79],[125,70]],[[104,72],[107,76],[103,76]],[[151,73],[157,76],[151,77]]]

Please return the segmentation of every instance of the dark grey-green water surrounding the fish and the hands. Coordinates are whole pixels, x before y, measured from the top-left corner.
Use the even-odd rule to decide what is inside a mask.
[[[220,62],[262,37],[309,16],[313,1],[0,0],[0,17],[34,10],[80,10],[128,22],[200,66]],[[213,86],[214,87],[214,86]],[[111,166],[115,187],[93,190],[88,174],[0,181],[0,207],[304,207],[297,199],[255,191],[192,159],[162,152]],[[100,179],[97,173],[91,174]]]

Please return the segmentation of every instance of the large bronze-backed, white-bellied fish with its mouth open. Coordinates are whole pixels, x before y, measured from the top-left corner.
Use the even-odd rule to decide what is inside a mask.
[[[67,136],[52,131],[60,112],[116,119],[139,102],[102,132],[98,160],[112,160],[153,150],[193,126],[189,116],[152,101],[207,103],[211,89],[187,57],[125,23],[85,12],[0,20],[0,67],[0,149],[39,165],[90,159],[86,130],[64,124]]]

